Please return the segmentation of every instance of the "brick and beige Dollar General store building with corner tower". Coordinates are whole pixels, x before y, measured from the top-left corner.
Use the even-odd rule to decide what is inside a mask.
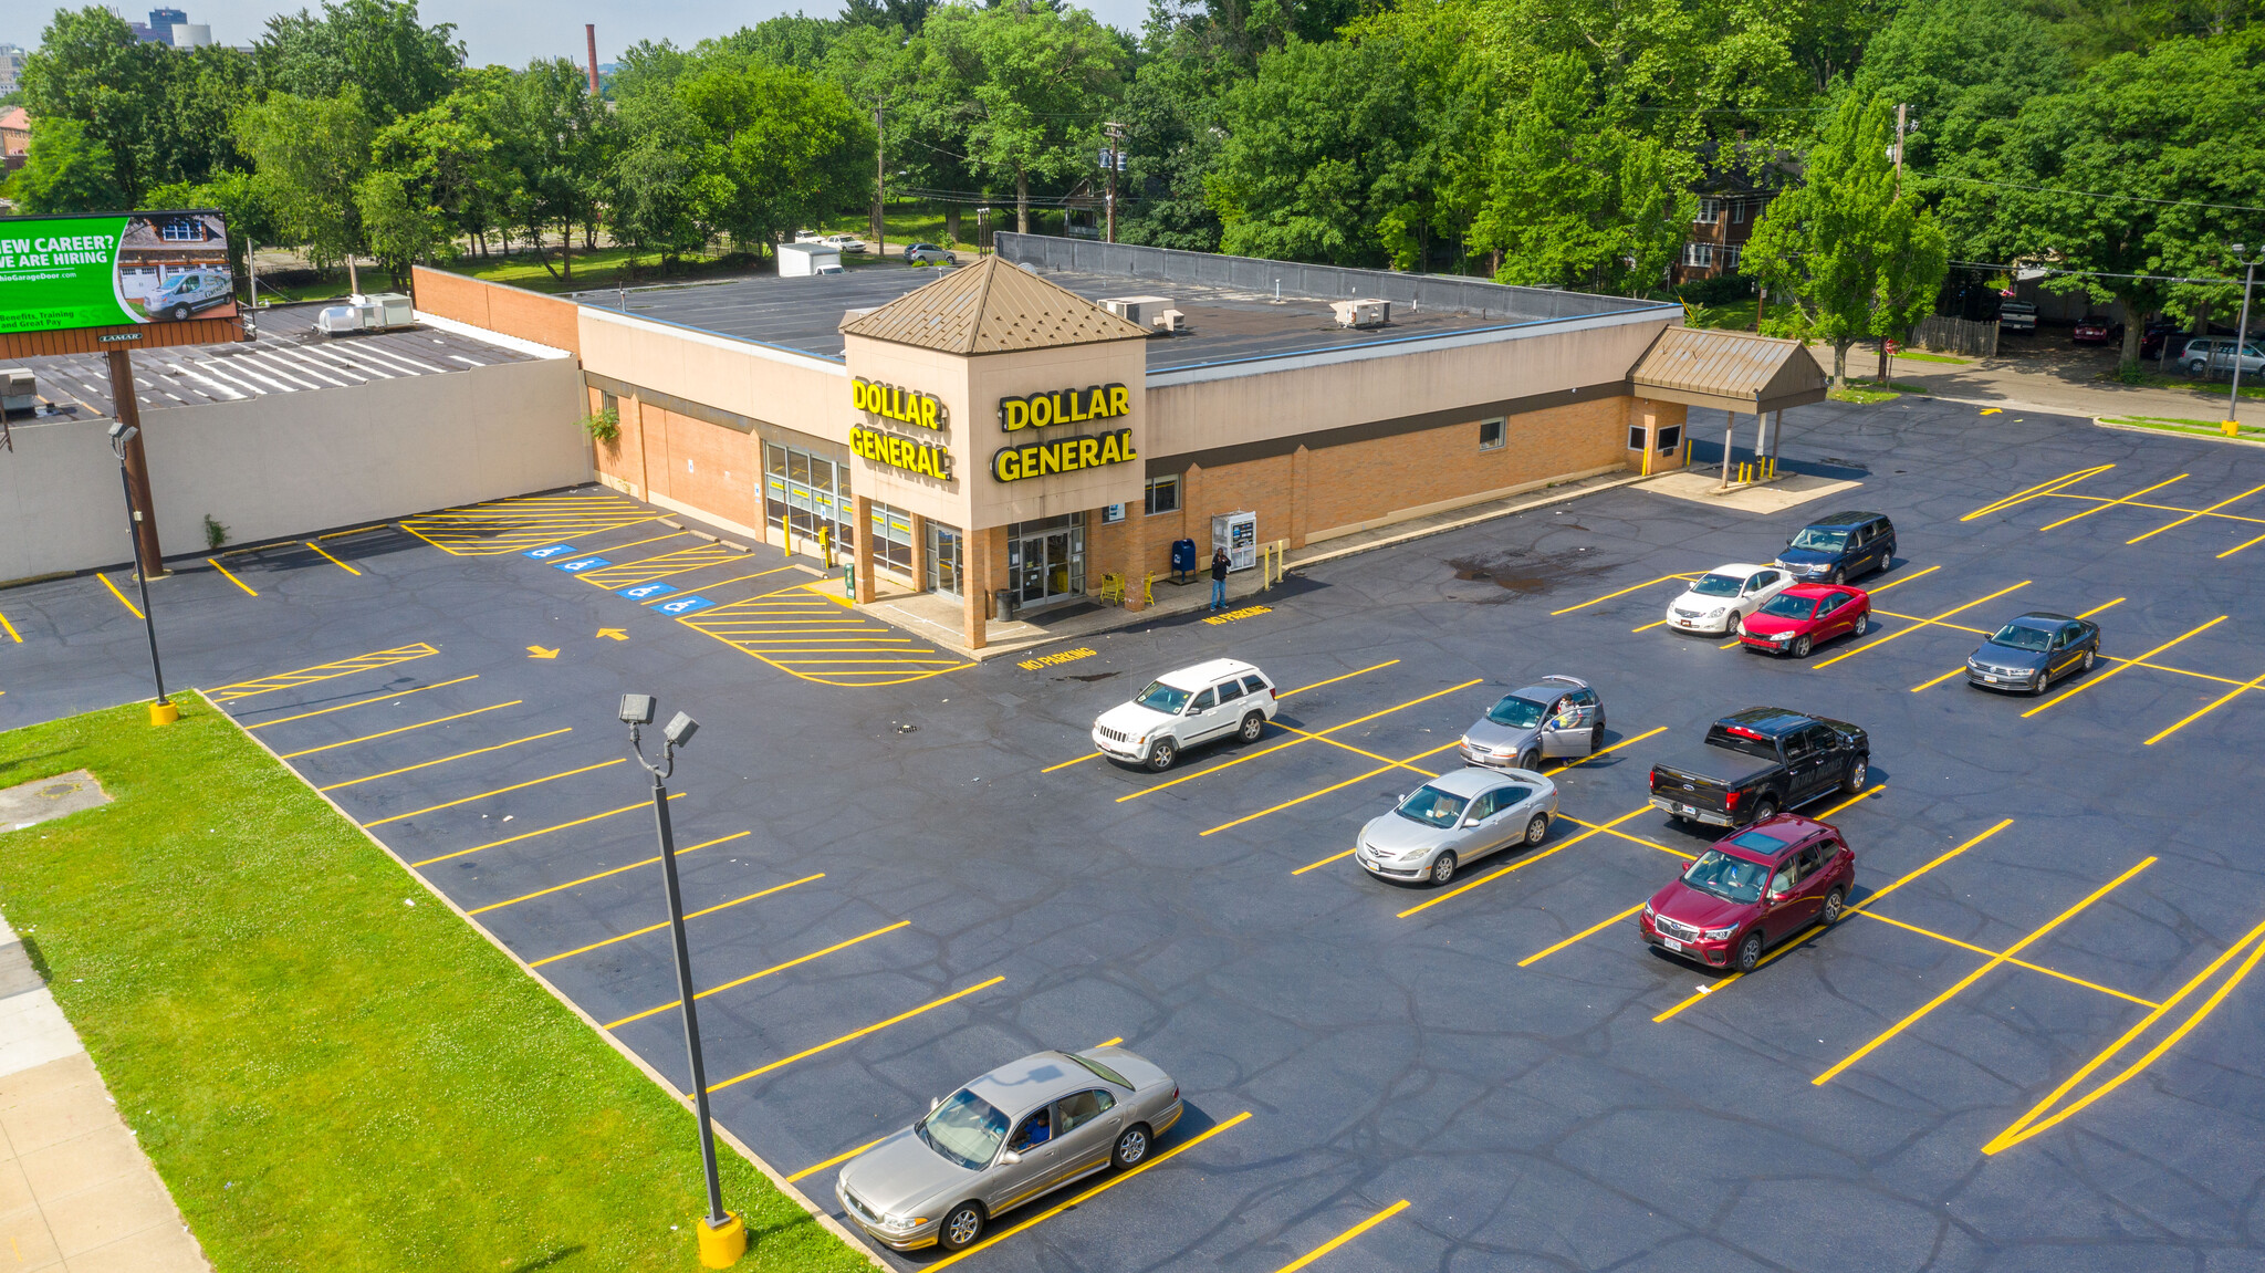
[[[1817,401],[1798,344],[1468,279],[999,236],[942,272],[535,297],[421,270],[419,308],[571,349],[596,471],[879,580],[1044,614],[1243,539],[1361,530],[1683,455],[1687,405]],[[1384,306],[1345,301],[1388,301]],[[1798,356],[1796,356],[1798,353]]]

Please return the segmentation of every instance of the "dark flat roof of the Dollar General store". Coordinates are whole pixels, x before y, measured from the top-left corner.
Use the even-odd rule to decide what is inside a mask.
[[[1035,238],[1035,236],[999,236]],[[1157,249],[1144,249],[1157,251]],[[1234,260],[1237,265],[1275,267],[1275,263],[1250,263],[1237,258],[1210,258],[1205,254],[1171,251],[1160,258],[1173,263]],[[716,335],[754,340],[818,358],[843,358],[840,322],[849,310],[886,306],[897,297],[935,281],[935,267],[913,267],[897,260],[872,260],[845,256],[849,265],[843,274],[815,279],[781,279],[777,274],[754,274],[718,283],[686,283],[659,288],[591,290],[571,292],[569,299],[605,310],[621,310],[623,304],[634,317],[680,324]],[[1384,294],[1393,299],[1393,322],[1377,328],[1336,326],[1330,308],[1334,297],[1302,294],[1293,281],[1314,267],[1282,263],[1282,299],[1271,292],[1237,288],[1232,283],[1198,283],[1157,279],[1142,274],[1114,274],[1096,270],[1051,270],[1040,267],[1040,276],[1058,283],[1089,301],[1108,297],[1171,297],[1173,308],[1187,315],[1185,331],[1148,340],[1148,374],[1219,362],[1257,358],[1287,358],[1298,353],[1320,353],[1334,349],[1357,349],[1393,344],[1429,335],[1454,335],[1463,331],[1493,331],[1527,324],[1576,322],[1604,313],[1672,310],[1658,301],[1626,297],[1588,297],[1579,292],[1547,292],[1536,288],[1497,288],[1463,279],[1441,283],[1459,290],[1477,290],[1488,308],[1454,308],[1436,301],[1393,297],[1386,288],[1400,285],[1404,292],[1418,276],[1332,270],[1332,279],[1350,283],[1375,283],[1377,290],[1361,294]]]

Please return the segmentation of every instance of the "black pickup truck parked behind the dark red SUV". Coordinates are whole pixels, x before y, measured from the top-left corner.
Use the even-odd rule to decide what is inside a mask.
[[[1749,707],[1706,745],[1651,766],[1651,804],[1669,818],[1744,827],[1830,791],[1864,791],[1871,738],[1855,725],[1785,707]]]

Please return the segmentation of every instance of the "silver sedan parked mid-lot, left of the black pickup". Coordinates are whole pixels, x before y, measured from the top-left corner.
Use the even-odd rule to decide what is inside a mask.
[[[1377,879],[1447,883],[1461,863],[1542,843],[1554,815],[1556,784],[1533,770],[1456,770],[1361,827],[1352,861]]]

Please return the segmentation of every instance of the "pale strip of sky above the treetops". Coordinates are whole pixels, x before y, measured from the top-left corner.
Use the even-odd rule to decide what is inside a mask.
[[[86,0],[70,0],[86,2]],[[322,0],[304,0],[308,9],[319,9]],[[149,0],[113,0],[113,7],[129,20],[147,20]],[[208,23],[213,41],[224,45],[247,45],[258,39],[270,14],[297,11],[301,2],[279,5],[276,0],[172,0],[190,23]],[[1146,0],[1087,0],[1085,5],[1103,23],[1137,32],[1148,14]],[[9,5],[0,18],[0,43],[23,48],[39,45],[43,16],[54,2],[27,0]],[[777,14],[795,9],[811,16],[838,14],[838,0],[811,0],[795,5],[788,0],[575,0],[553,9],[532,0],[421,0],[417,11],[430,23],[455,23],[458,39],[464,41],[473,66],[505,63],[525,66],[537,57],[571,57],[575,66],[582,57],[582,23],[598,23],[598,61],[614,61],[621,50],[636,41],[675,41],[680,48],[700,43],[707,36],[736,32]]]

